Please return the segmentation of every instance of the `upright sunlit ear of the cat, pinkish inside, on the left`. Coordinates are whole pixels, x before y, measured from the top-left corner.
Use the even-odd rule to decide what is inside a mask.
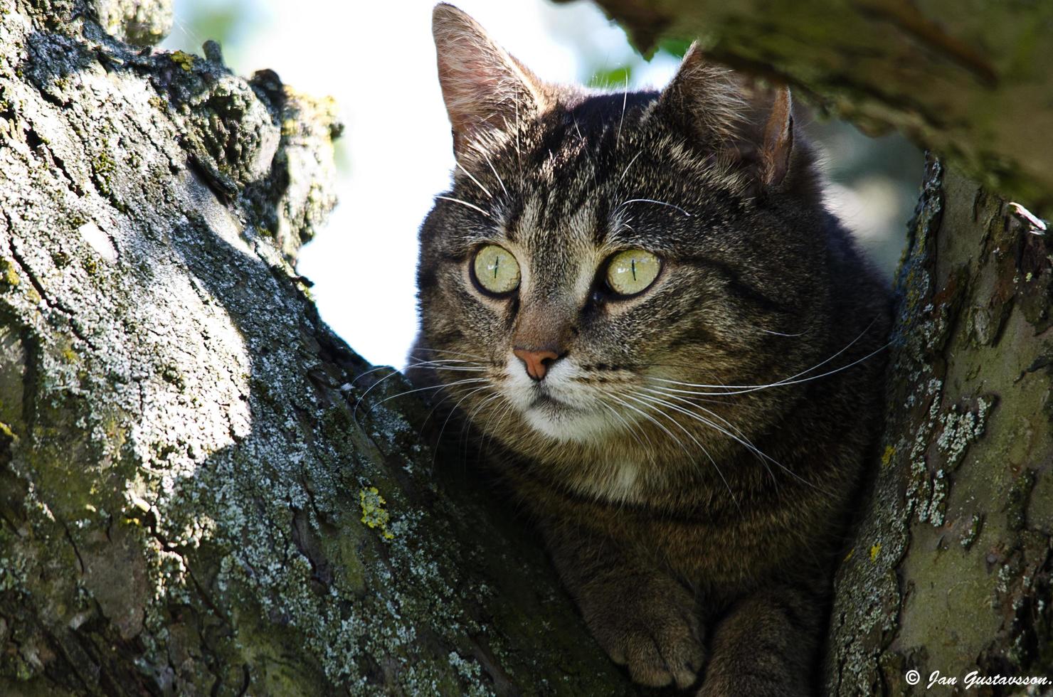
[[[432,33],[458,158],[473,139],[491,131],[508,132],[544,111],[541,81],[463,12],[446,3],[435,5]]]

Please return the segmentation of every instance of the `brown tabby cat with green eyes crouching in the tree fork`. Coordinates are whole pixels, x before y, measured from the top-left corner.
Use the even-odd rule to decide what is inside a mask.
[[[695,46],[660,92],[553,85],[452,5],[433,28],[456,168],[411,379],[486,443],[633,680],[816,694],[890,299],[789,91]]]

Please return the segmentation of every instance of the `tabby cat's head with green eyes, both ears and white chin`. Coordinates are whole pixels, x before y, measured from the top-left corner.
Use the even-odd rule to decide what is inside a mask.
[[[778,419],[786,391],[752,386],[821,360],[831,302],[789,93],[694,48],[660,92],[551,85],[451,5],[434,32],[457,166],[411,364],[535,455],[697,459]]]

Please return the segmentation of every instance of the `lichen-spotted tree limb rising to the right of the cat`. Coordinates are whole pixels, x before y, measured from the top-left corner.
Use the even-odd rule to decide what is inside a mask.
[[[972,671],[1053,678],[1053,250],[1040,232],[930,160],[897,280],[874,493],[837,577],[831,695],[926,694],[934,671],[959,690]]]

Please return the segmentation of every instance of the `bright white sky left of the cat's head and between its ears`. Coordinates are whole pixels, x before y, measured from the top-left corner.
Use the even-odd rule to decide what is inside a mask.
[[[176,3],[177,32],[165,46],[200,53],[208,37],[180,36],[194,3]],[[588,80],[633,63],[634,83],[663,84],[676,61],[640,66],[624,33],[595,5],[544,0],[460,0],[458,6],[540,77]],[[416,334],[417,230],[454,166],[439,92],[431,21],[433,0],[347,2],[254,0],[245,29],[224,46],[241,75],[270,67],[301,92],[332,95],[346,125],[350,161],[324,230],[300,254],[322,318],[377,364],[401,366]],[[180,19],[182,18],[182,22]]]

